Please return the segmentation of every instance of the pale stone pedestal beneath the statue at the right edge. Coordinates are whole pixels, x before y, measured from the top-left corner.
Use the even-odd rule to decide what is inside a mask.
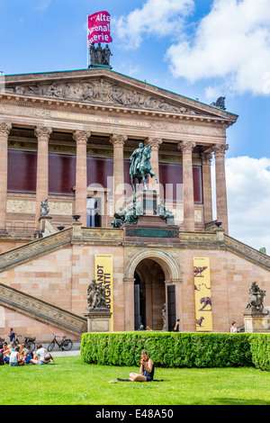
[[[246,309],[244,311],[245,332],[270,332],[270,318],[269,311],[263,309],[257,311],[256,309]]]

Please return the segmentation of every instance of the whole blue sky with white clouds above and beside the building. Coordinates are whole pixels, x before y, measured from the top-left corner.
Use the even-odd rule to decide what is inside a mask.
[[[102,10],[114,71],[202,103],[226,96],[239,116],[227,139],[230,235],[269,254],[269,0],[0,0],[0,70],[87,67],[86,15]]]

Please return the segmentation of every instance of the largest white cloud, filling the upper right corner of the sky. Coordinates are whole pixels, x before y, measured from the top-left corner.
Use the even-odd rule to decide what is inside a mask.
[[[215,0],[166,58],[173,75],[190,82],[217,77],[231,93],[270,94],[269,0]]]

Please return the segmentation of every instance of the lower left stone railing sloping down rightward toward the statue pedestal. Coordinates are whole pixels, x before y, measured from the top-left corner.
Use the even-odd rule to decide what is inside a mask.
[[[78,338],[87,330],[85,318],[4,284],[0,284],[0,305]]]

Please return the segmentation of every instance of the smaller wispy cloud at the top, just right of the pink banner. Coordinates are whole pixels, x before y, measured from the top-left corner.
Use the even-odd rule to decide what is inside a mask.
[[[157,37],[180,34],[183,18],[191,14],[193,7],[193,0],[147,0],[140,9],[112,19],[112,24],[126,46],[130,42],[132,48],[138,48],[148,34]]]

